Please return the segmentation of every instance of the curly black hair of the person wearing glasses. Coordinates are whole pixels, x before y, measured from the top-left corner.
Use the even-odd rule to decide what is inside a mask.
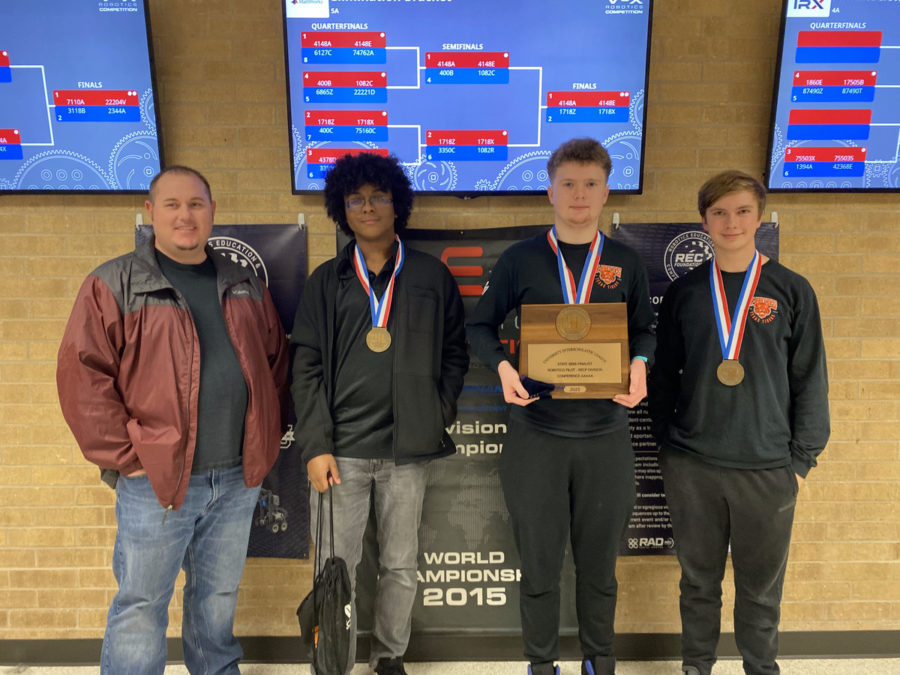
[[[396,157],[382,157],[371,152],[344,155],[325,175],[325,210],[340,226],[341,231],[353,236],[353,230],[347,224],[344,202],[363,185],[374,185],[379,190],[391,193],[397,216],[394,232],[403,231],[409,222],[409,214],[412,213],[412,185]]]

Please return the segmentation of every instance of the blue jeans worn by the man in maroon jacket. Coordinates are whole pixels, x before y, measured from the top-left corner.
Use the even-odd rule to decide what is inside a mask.
[[[113,549],[119,591],[107,616],[101,673],[163,672],[169,600],[182,567],[188,671],[239,672],[234,610],[259,490],[245,487],[241,465],[193,475],[184,504],[163,522],[165,509],[147,477],[119,478]]]

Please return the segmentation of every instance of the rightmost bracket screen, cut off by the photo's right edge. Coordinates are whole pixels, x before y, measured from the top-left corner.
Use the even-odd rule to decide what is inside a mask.
[[[900,190],[900,2],[785,0],[773,192]]]

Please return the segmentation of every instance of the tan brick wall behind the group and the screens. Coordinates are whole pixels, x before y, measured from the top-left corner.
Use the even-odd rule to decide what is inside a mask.
[[[626,221],[697,220],[716,170],[761,174],[778,0],[658,0],[645,191]],[[206,172],[220,222],[296,222],[311,267],[330,257],[318,198],[290,193],[279,4],[152,0],[167,161]],[[85,274],[131,248],[135,196],[0,197],[0,639],[98,638],[114,592],[113,494],[59,412],[55,355]],[[782,260],[819,293],[832,442],[801,491],[785,630],[900,628],[900,195],[775,195]],[[413,225],[549,222],[540,197],[422,197]],[[677,564],[620,563],[617,628],[676,632]],[[309,564],[251,560],[237,631],[293,635]],[[731,601],[726,592],[726,602]],[[180,621],[173,601],[174,627]],[[729,612],[726,612],[726,616]],[[730,624],[726,621],[726,630]]]

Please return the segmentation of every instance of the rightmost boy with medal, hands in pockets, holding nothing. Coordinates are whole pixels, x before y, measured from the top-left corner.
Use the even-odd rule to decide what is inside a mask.
[[[778,673],[778,620],[798,488],[828,441],[816,295],[756,250],[765,188],[726,171],[700,188],[715,258],[669,287],[650,413],[681,563],[682,670],[716,661],[731,547],[734,634],[749,675]]]

